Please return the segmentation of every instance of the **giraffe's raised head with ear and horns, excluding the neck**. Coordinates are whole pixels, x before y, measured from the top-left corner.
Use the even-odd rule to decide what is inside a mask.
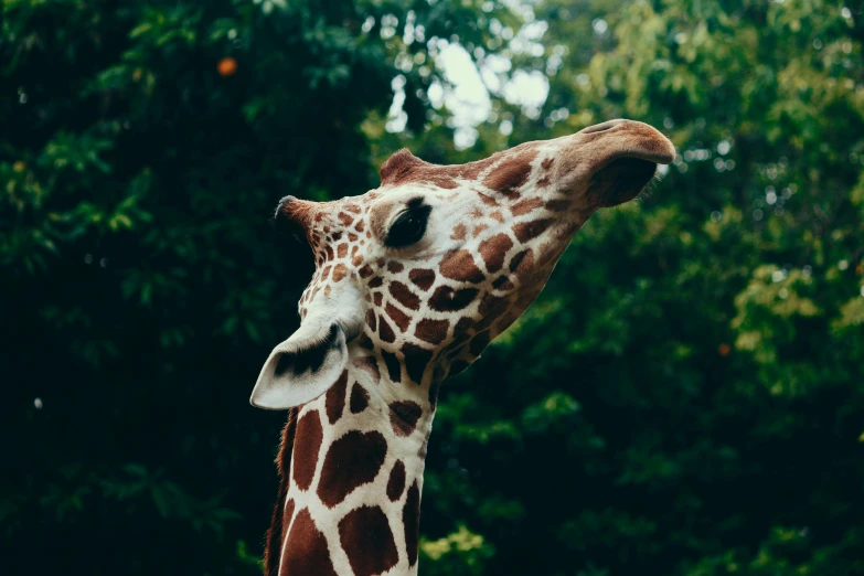
[[[636,198],[674,156],[654,128],[610,120],[460,166],[403,149],[361,196],[282,199],[277,217],[299,227],[317,267],[300,328],[267,359],[252,403],[307,403],[359,356],[393,383],[437,390],[525,311],[596,210]]]

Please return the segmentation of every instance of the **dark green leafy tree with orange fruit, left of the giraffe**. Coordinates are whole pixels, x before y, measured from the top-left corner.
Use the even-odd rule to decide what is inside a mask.
[[[394,63],[476,9],[2,7],[3,573],[254,574],[285,415],[247,399],[312,266],[268,215],[374,186]]]

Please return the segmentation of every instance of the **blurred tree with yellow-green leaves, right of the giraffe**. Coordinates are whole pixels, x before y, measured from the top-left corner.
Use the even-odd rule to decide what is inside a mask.
[[[681,153],[442,392],[424,522],[483,536],[486,573],[864,569],[854,10],[536,8],[543,56],[512,60],[548,97],[536,119],[497,100],[471,152],[629,117]]]

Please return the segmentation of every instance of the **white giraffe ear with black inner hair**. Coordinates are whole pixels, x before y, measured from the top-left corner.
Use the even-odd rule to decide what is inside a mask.
[[[327,392],[346,365],[348,344],[339,324],[301,326],[270,352],[249,403],[271,410],[306,404]]]

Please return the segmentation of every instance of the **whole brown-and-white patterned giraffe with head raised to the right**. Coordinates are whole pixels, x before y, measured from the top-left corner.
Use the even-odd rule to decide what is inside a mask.
[[[289,409],[267,576],[416,574],[441,382],[529,307],[596,210],[636,198],[674,154],[619,119],[460,166],[403,149],[363,195],[280,201],[316,271],[250,398]]]

